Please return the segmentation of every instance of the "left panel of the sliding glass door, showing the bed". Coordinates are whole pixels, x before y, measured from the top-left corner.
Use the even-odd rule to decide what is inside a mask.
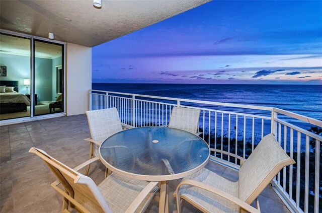
[[[31,39],[0,34],[0,120],[30,117]]]

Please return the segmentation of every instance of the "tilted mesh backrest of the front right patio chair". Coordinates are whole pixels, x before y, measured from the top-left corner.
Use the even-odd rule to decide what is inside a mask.
[[[283,167],[294,163],[274,135],[266,135],[239,170],[239,199],[251,204]]]

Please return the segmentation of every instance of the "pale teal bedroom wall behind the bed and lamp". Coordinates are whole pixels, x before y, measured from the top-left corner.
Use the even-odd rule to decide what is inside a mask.
[[[0,64],[7,66],[7,76],[0,77],[1,81],[19,81],[19,93],[27,91],[24,79],[30,79],[30,57],[0,53]],[[30,93],[30,86],[28,87]]]

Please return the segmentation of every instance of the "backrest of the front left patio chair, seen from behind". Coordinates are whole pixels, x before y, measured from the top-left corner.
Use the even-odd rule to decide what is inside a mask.
[[[69,196],[87,210],[90,212],[112,212],[97,185],[90,177],[67,167],[40,149],[31,148],[29,153],[39,156],[55,174]]]

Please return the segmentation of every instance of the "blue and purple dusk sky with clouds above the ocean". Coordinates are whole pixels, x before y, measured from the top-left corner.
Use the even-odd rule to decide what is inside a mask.
[[[322,84],[321,13],[322,1],[212,1],[94,47],[93,83]]]

